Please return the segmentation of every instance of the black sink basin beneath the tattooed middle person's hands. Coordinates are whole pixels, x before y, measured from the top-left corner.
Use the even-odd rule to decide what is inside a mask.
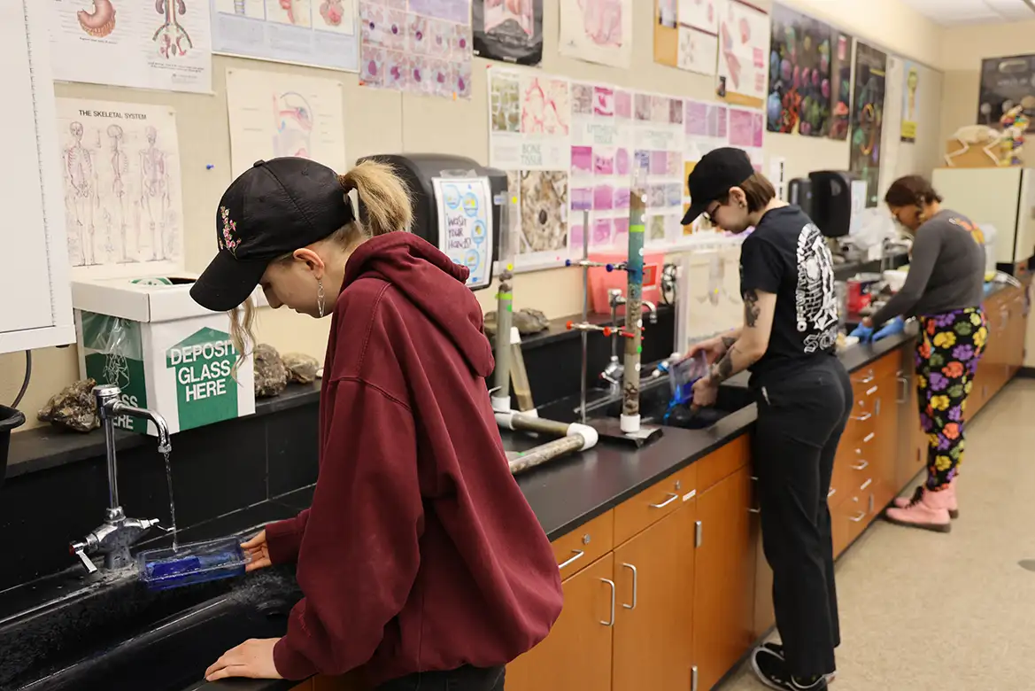
[[[672,388],[667,378],[643,382],[640,388],[641,421],[646,425],[707,429],[755,402],[746,386],[731,380],[718,387],[718,399],[714,406],[701,408],[697,412],[691,412],[688,406],[680,406],[666,419],[671,398]],[[595,407],[587,406],[587,412],[591,418],[618,418],[622,412],[622,401],[603,401]]]

